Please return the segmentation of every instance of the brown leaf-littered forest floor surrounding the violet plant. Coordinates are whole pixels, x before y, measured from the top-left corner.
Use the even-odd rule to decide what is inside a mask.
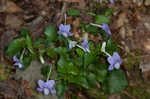
[[[123,92],[107,97],[150,99],[150,0],[116,0],[115,4],[105,0],[0,0],[0,78],[5,79],[0,81],[0,99],[34,99],[36,93],[26,81],[30,78],[14,79],[16,70],[10,66],[12,60],[5,54],[5,49],[19,36],[22,28],[32,31],[32,39],[36,39],[47,24],[58,26],[69,8],[77,8],[81,13],[89,8],[96,14],[103,12],[104,8],[116,11],[110,16],[111,38],[119,44],[129,86]],[[88,14],[81,14],[76,18],[67,17],[67,23],[73,26],[74,36],[80,37],[78,24],[86,24],[91,19]],[[91,35],[90,40],[95,40],[95,37]],[[26,72],[29,71],[17,73],[24,75]],[[38,75],[37,72],[35,74]]]

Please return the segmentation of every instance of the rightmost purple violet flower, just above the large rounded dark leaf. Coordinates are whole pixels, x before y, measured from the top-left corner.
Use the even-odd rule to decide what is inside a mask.
[[[113,70],[114,68],[119,69],[120,64],[122,63],[122,59],[117,52],[114,52],[113,56],[109,56],[107,61],[110,64],[108,70]]]

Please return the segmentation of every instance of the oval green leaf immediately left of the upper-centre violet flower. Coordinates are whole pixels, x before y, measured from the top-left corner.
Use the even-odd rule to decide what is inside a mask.
[[[53,25],[48,25],[45,28],[44,34],[49,42],[57,40],[57,30]]]

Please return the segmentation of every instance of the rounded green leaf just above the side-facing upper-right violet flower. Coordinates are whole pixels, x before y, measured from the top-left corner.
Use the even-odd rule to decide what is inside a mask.
[[[96,15],[94,19],[96,24],[102,24],[102,23],[109,24],[111,21],[110,18],[104,15]]]

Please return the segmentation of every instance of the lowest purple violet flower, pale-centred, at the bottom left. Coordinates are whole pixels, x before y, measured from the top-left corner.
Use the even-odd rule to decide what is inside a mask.
[[[48,80],[47,82],[44,82],[42,80],[38,81],[39,88],[37,88],[37,91],[44,92],[44,95],[48,95],[49,93],[56,93],[56,90],[53,89],[53,86],[55,84],[54,80]]]

